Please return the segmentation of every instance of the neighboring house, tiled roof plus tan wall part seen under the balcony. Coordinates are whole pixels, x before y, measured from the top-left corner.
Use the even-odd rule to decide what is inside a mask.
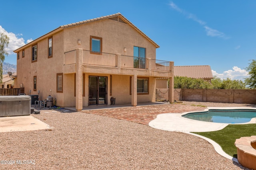
[[[212,69],[209,65],[203,66],[174,66],[174,76],[190,77],[190,78],[202,78],[208,82],[211,82]],[[169,78],[157,78],[156,88],[168,88]]]

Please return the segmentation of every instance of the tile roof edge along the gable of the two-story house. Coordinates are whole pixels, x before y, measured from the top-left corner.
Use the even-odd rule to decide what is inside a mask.
[[[74,27],[77,25],[82,25],[82,24],[86,24],[86,23],[91,23],[94,21],[100,21],[100,20],[106,20],[106,19],[111,19],[111,18],[116,18],[116,17],[120,17],[120,19],[122,20],[121,22],[127,23],[129,24],[131,27],[133,27],[136,31],[138,31],[142,36],[144,36],[146,39],[148,39],[148,41],[150,41],[152,44],[154,44],[156,46],[156,48],[159,48],[160,46],[158,44],[156,44],[152,39],[150,39],[145,33],[143,33],[140,29],[138,29],[138,27],[136,27],[132,22],[130,22],[129,20],[127,20],[122,14],[117,13],[117,14],[112,14],[112,15],[108,15],[108,16],[102,16],[102,17],[98,17],[98,18],[94,18],[94,19],[90,19],[90,20],[84,20],[84,21],[79,21],[76,23],[70,23],[70,24],[66,24],[66,25],[61,25],[60,27],[46,33],[45,35],[42,35],[41,37],[35,39],[34,41],[31,41],[30,43],[14,50],[14,53],[20,51],[23,47],[27,47],[28,45],[31,45],[33,43],[36,43],[36,41],[39,41],[40,39],[43,39],[47,36],[49,36],[50,34],[56,33],[58,32],[58,30],[62,30],[68,27]]]

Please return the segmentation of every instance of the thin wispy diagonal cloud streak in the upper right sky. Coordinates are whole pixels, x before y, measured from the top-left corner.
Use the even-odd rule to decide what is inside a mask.
[[[185,10],[182,10],[180,9],[176,4],[174,4],[173,2],[171,2],[169,4],[174,10],[180,12],[181,14],[183,14],[184,16],[186,16],[188,19],[191,19],[197,23],[199,23],[200,25],[202,25],[206,31],[206,35],[210,36],[210,37],[220,37],[220,38],[223,38],[223,39],[228,39],[229,37],[227,37],[224,33],[216,30],[216,29],[212,29],[210,27],[208,27],[206,25],[206,22],[205,21],[202,21],[200,19],[198,19],[196,17],[196,15],[194,14],[191,14],[189,12],[186,12]]]

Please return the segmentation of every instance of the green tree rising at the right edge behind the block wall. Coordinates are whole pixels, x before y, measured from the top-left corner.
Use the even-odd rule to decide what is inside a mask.
[[[245,78],[244,82],[249,88],[256,88],[256,60],[252,60],[248,67],[245,68],[249,73],[249,77]]]

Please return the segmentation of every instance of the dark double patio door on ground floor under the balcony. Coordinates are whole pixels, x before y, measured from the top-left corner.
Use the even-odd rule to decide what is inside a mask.
[[[107,76],[89,76],[88,88],[89,88],[89,96],[88,96],[89,106],[108,104],[108,77]]]

